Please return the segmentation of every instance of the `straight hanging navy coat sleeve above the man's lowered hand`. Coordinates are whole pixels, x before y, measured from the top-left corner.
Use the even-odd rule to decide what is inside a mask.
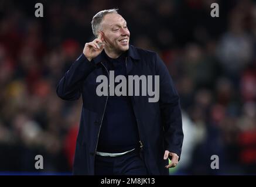
[[[182,151],[183,130],[179,95],[165,63],[156,54],[159,75],[159,106],[164,129],[165,150],[178,154]]]

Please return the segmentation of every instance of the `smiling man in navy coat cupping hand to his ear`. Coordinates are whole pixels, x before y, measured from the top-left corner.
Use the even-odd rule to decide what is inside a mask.
[[[91,25],[97,39],[86,43],[57,85],[62,99],[83,97],[74,174],[168,175],[168,168],[178,164],[183,130],[179,96],[165,64],[156,53],[129,44],[127,23],[117,9],[98,12]],[[100,75],[111,80],[110,71],[116,78],[158,76],[159,100],[148,102],[149,95],[138,94],[113,96],[112,82],[108,95],[99,96],[96,80]],[[132,88],[139,93],[144,86]]]

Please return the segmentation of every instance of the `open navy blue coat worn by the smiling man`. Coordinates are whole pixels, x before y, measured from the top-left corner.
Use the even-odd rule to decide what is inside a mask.
[[[82,95],[80,127],[77,136],[73,174],[94,175],[94,159],[98,136],[108,96],[96,94],[98,75],[108,77],[103,54],[91,62],[84,54],[71,65],[57,85],[57,95],[76,100]],[[159,75],[159,101],[148,102],[149,96],[132,96],[132,106],[143,144],[143,157],[149,174],[168,175],[165,150],[179,155],[182,151],[183,130],[179,96],[170,74],[155,52],[129,46],[128,75]],[[154,87],[153,87],[154,88]]]

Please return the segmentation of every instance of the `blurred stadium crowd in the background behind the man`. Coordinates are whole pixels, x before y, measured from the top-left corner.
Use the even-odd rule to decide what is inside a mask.
[[[162,57],[178,89],[185,139],[171,174],[256,174],[255,1],[41,3],[36,18],[35,1],[0,0],[0,174],[71,174],[81,99],[62,101],[56,85],[94,39],[95,13],[110,8],[127,20],[131,44]]]

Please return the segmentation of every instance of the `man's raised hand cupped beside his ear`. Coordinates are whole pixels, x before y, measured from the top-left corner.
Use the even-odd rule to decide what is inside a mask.
[[[93,41],[86,43],[84,46],[84,56],[91,61],[93,58],[97,57],[101,51],[104,49],[104,43],[103,43],[103,37],[102,34],[98,34],[98,38],[94,39]]]

